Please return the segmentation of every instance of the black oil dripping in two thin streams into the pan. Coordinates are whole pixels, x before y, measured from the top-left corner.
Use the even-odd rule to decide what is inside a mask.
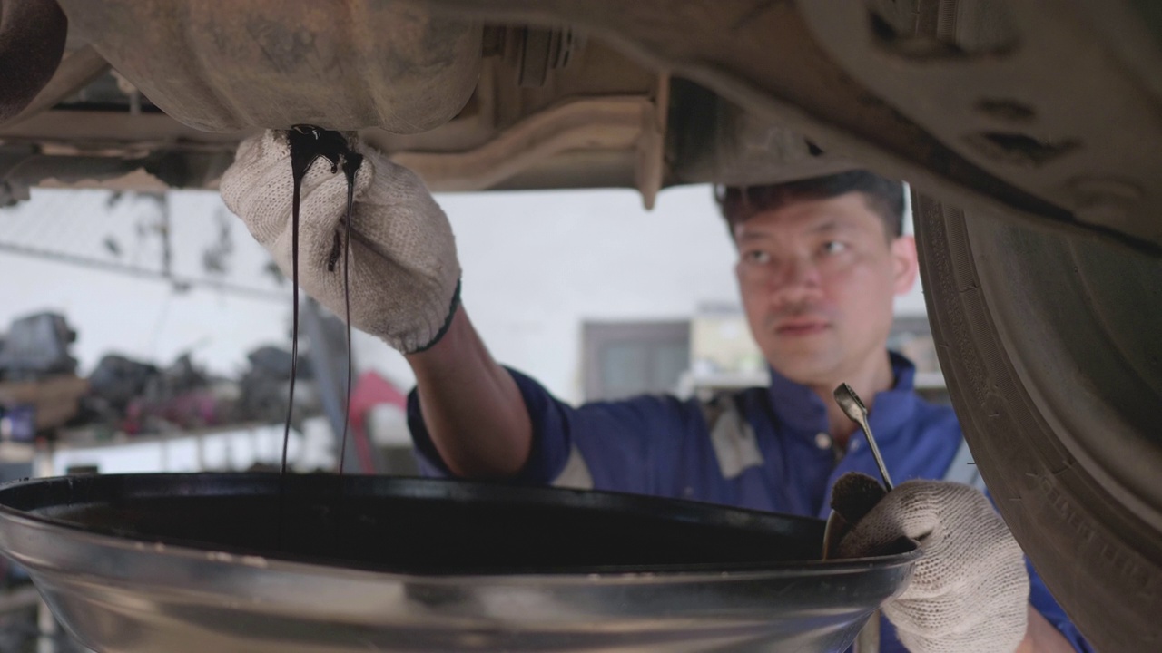
[[[345,136],[338,131],[322,129],[318,127],[300,124],[287,131],[287,142],[290,148],[290,174],[294,180],[294,194],[290,204],[290,280],[294,286],[294,306],[292,308],[290,329],[290,389],[287,402],[286,426],[282,431],[282,465],[279,471],[279,516],[278,516],[278,546],[282,548],[284,516],[286,514],[286,476],[287,476],[287,449],[290,443],[290,418],[294,412],[294,385],[299,367],[299,208],[302,195],[302,180],[310,170],[311,164],[317,159],[327,159],[331,164],[331,173],[343,171],[347,181],[347,202],[343,221],[344,234],[335,234],[335,249],[328,259],[328,273],[335,272],[335,264],[338,260],[338,250],[343,251],[343,303],[346,323],[346,354],[347,354],[347,385],[346,399],[343,404],[343,436],[339,449],[339,476],[343,475],[343,467],[347,451],[347,424],[351,410],[351,222],[354,214],[354,181],[359,166],[363,165],[363,155],[351,150]],[[339,488],[342,493],[342,479]],[[338,522],[336,523],[336,534],[338,536]]]

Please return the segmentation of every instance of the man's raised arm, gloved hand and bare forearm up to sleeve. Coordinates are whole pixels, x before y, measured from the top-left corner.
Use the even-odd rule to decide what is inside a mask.
[[[349,214],[346,178],[315,162],[302,182],[302,256],[292,252],[296,225],[286,132],[266,130],[238,146],[222,175],[222,199],[284,274],[290,275],[297,259],[307,294],[336,315],[350,309],[352,326],[408,357],[432,444],[450,472],[517,474],[532,449],[532,426],[516,383],[488,354],[462,307],[456,308],[460,263],[447,216],[414,172],[373,148],[349,145],[364,156],[354,207]],[[347,215],[351,260],[359,261],[349,271],[350,295],[358,297],[350,304],[347,274],[324,265]]]

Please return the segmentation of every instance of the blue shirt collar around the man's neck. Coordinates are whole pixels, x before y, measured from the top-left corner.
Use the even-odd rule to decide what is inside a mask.
[[[917,401],[912,392],[916,383],[916,366],[894,351],[889,351],[888,357],[896,382],[891,389],[877,393],[871,404],[869,422],[877,436],[876,439],[890,437],[897,431],[898,426],[912,416]],[[816,433],[827,432],[827,408],[811,388],[796,383],[770,368],[768,396],[775,417],[791,433],[813,438]]]

